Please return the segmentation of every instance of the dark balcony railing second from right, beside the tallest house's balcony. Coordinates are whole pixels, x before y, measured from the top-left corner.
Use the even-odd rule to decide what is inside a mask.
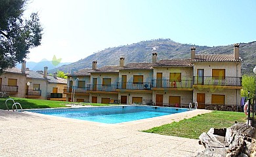
[[[193,80],[152,80],[154,88],[192,88]]]

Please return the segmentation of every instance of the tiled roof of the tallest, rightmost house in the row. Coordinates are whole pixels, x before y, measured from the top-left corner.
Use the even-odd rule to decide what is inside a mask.
[[[194,62],[198,61],[241,61],[234,60],[234,54],[198,54],[195,59],[192,60]]]

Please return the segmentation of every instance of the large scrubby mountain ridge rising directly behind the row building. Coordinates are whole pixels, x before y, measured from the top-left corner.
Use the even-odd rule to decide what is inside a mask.
[[[198,46],[194,44],[181,44],[171,39],[156,39],[150,41],[140,41],[139,43],[127,44],[114,48],[106,48],[100,52],[94,53],[87,58],[62,65],[50,72],[60,70],[71,73],[91,67],[92,61],[97,60],[97,67],[104,65],[119,65],[119,57],[125,57],[125,64],[130,62],[150,62],[152,61],[152,47],[158,52],[158,60],[172,58],[190,58],[190,47],[196,47],[196,54],[232,54],[233,44],[226,46]],[[242,73],[252,73],[256,65],[256,42],[240,43],[240,57],[242,61]]]

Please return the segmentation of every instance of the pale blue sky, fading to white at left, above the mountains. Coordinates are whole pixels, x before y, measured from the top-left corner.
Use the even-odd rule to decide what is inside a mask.
[[[224,46],[256,41],[256,1],[30,0],[38,12],[41,46],[27,61],[75,62],[105,48],[151,39]]]

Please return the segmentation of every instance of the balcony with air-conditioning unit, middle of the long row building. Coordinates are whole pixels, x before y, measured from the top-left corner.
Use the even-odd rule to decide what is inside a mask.
[[[119,90],[151,90],[152,84],[150,82],[118,82]]]

